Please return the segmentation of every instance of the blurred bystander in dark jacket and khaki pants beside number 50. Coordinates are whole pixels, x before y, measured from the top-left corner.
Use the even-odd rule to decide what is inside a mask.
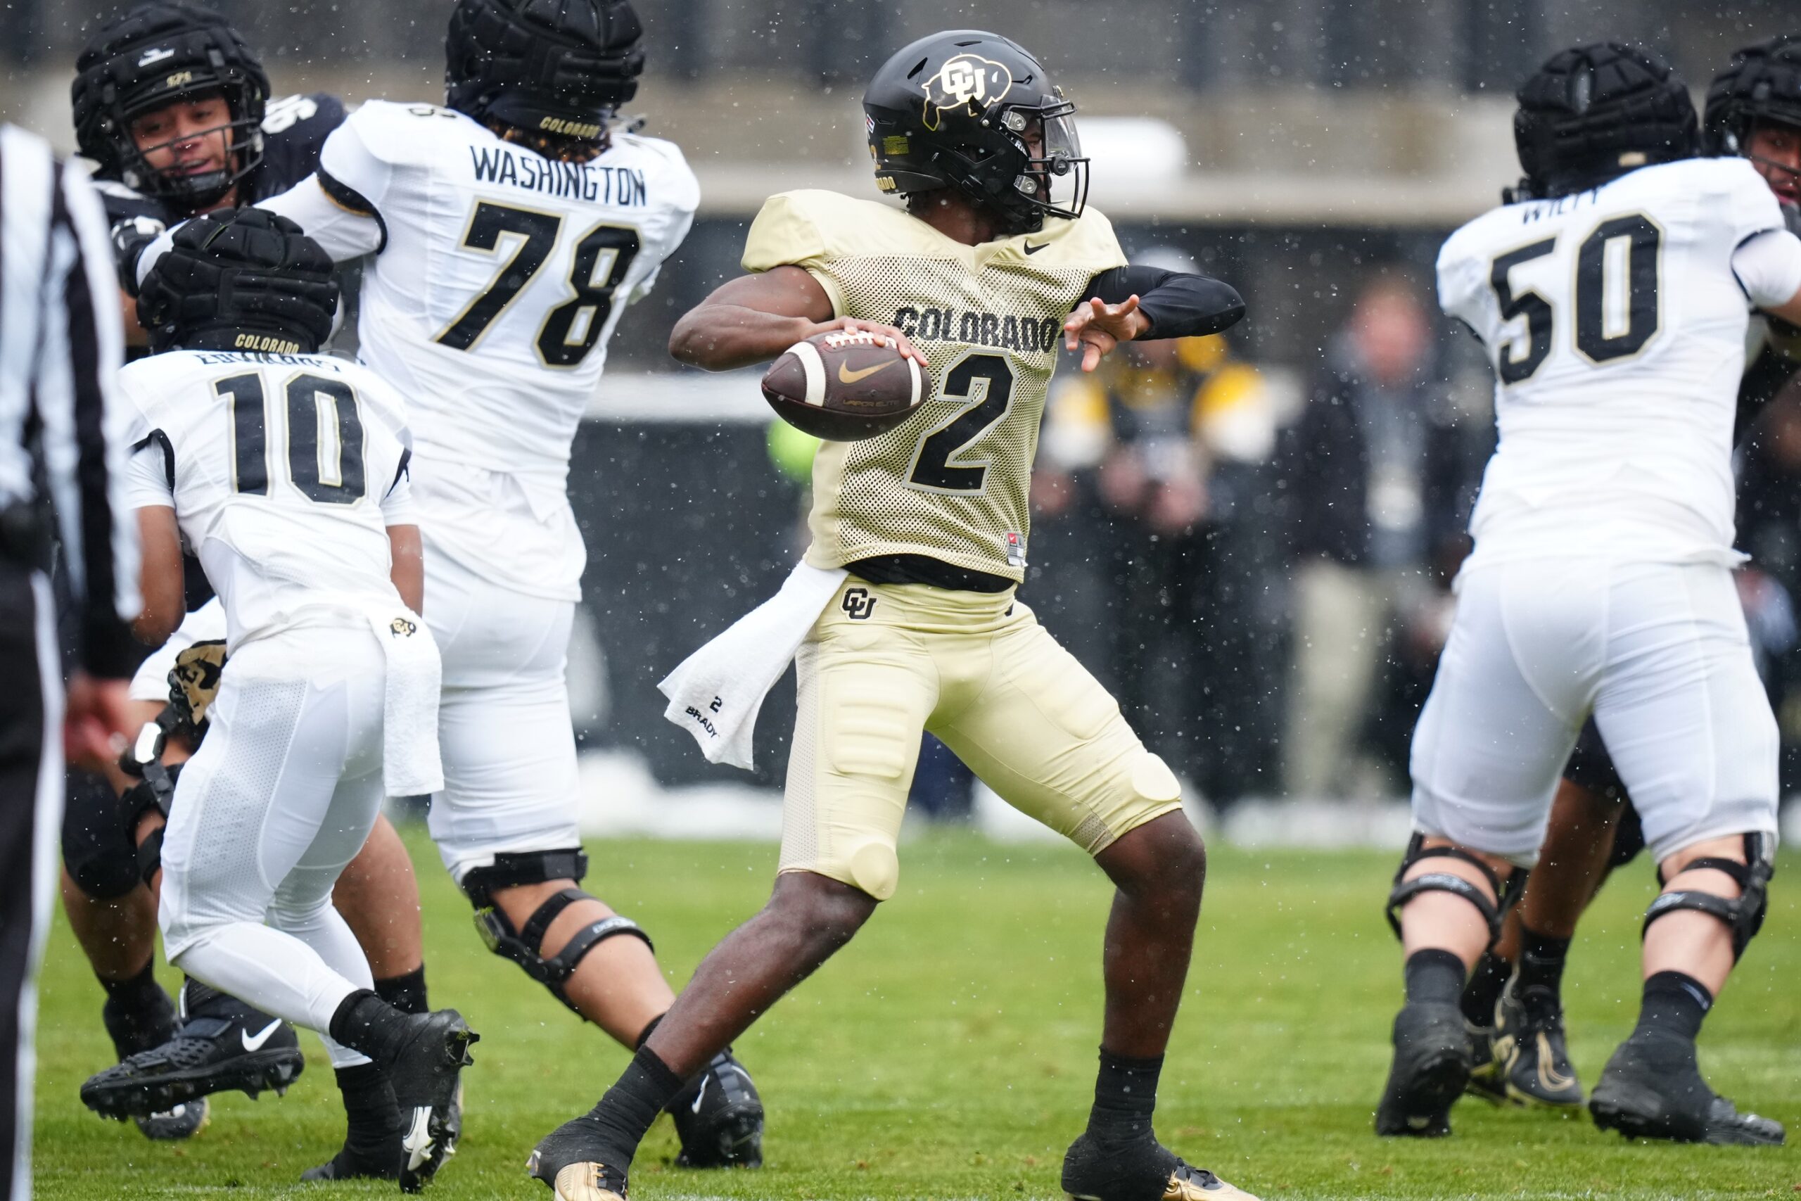
[[[1434,371],[1417,290],[1378,274],[1327,348],[1279,463],[1291,553],[1290,796],[1381,796],[1405,772],[1363,751],[1385,664],[1430,679],[1466,551],[1475,463]]]

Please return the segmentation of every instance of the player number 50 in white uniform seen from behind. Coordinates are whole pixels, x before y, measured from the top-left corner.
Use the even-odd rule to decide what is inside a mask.
[[[1457,618],[1414,733],[1414,839],[1389,898],[1407,1005],[1381,1134],[1450,1131],[1459,994],[1538,857],[1592,715],[1662,893],[1639,1023],[1588,1100],[1603,1129],[1779,1143],[1700,1075],[1695,1039],[1758,933],[1776,720],[1731,567],[1731,441],[1751,310],[1801,317],[1801,239],[1742,158],[1697,158],[1688,90],[1601,43],[1518,92],[1525,178],[1439,252],[1439,299],[1488,348],[1500,447]]]

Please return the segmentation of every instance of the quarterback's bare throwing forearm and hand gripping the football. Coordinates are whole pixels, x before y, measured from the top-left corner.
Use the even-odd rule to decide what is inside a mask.
[[[800,266],[738,275],[688,310],[670,331],[670,355],[706,371],[767,362],[787,348],[832,330],[863,330],[890,339],[902,355],[926,357],[893,326],[832,317],[832,297]]]

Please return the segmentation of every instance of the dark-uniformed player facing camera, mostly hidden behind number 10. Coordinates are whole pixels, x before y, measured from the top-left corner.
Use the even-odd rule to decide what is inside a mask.
[[[261,59],[236,29],[211,9],[166,0],[139,4],[94,32],[76,59],[72,99],[76,139],[94,162],[122,257],[133,257],[167,223],[304,180],[326,133],[344,121],[344,106],[326,94],[270,99]],[[126,297],[124,304],[126,328],[142,342],[135,303]],[[205,580],[195,583],[204,596]],[[135,706],[140,722],[164,709],[164,675],[166,668],[153,670],[144,681],[149,699]],[[292,1028],[193,985],[184,989],[178,1014],[157,983],[155,897],[140,879],[153,871],[155,844],[137,848],[131,816],[121,821],[117,798],[131,785],[122,776],[70,772],[63,810],[63,906],[106,990],[106,1032],[121,1061],[148,1055],[122,1073],[101,1073],[90,1082],[101,1091],[90,1088],[88,1097],[108,1098],[108,1089],[169,1070],[209,1075],[204,1093],[285,1086],[303,1064]],[[139,794],[148,798],[148,785]],[[409,1012],[425,1012],[418,884],[387,817],[376,821],[367,848],[346,870],[339,900],[364,938],[376,990]],[[103,1111],[117,1113],[106,1102]],[[186,1138],[205,1116],[202,1095],[180,1113],[139,1115],[135,1122],[151,1138]]]

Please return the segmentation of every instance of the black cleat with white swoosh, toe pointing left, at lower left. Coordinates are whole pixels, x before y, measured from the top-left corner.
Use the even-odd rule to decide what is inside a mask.
[[[106,1118],[155,1118],[213,1093],[286,1093],[306,1068],[294,1026],[189,981],[167,1043],[88,1077],[81,1102]],[[198,1127],[196,1127],[198,1129]]]

